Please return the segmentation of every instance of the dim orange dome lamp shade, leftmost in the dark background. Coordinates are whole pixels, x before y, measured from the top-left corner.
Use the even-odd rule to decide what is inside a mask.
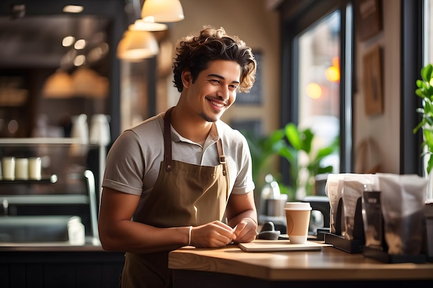
[[[50,75],[42,88],[42,95],[45,98],[69,98],[73,93],[71,76],[63,70],[57,70]]]

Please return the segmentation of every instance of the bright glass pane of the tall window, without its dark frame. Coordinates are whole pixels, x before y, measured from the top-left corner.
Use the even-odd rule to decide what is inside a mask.
[[[313,150],[329,146],[340,134],[340,12],[315,23],[299,37],[298,125],[315,134]],[[340,171],[340,157],[324,159]]]

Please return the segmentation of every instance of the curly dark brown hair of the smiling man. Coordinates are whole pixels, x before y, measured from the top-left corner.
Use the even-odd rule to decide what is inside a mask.
[[[183,90],[181,75],[188,69],[192,81],[208,68],[214,60],[236,61],[241,66],[239,92],[249,92],[255,81],[257,62],[250,47],[237,36],[228,36],[224,28],[205,26],[199,35],[188,35],[176,44],[176,58],[173,64],[174,87]]]

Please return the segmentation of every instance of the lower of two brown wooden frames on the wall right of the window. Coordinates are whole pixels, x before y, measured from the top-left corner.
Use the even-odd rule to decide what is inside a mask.
[[[380,46],[375,46],[365,53],[363,64],[365,113],[377,115],[383,113],[382,61]]]

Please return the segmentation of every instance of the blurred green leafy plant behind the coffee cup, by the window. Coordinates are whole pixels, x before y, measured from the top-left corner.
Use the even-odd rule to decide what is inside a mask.
[[[255,135],[242,131],[246,136],[252,157],[252,177],[257,186],[257,193],[264,184],[265,175],[271,173],[279,183],[281,193],[288,195],[288,200],[302,198],[311,195],[315,184],[315,175],[331,173],[332,166],[322,166],[324,157],[338,151],[338,137],[326,147],[314,151],[314,133],[310,128],[299,129],[295,124],[288,123],[282,129],[270,133],[268,136]],[[304,155],[306,161],[300,161],[300,155]],[[291,184],[286,186],[281,182],[281,175],[273,173],[271,161],[275,156],[281,156],[291,165]],[[304,177],[302,177],[304,175]],[[258,195],[256,195],[258,198]]]

